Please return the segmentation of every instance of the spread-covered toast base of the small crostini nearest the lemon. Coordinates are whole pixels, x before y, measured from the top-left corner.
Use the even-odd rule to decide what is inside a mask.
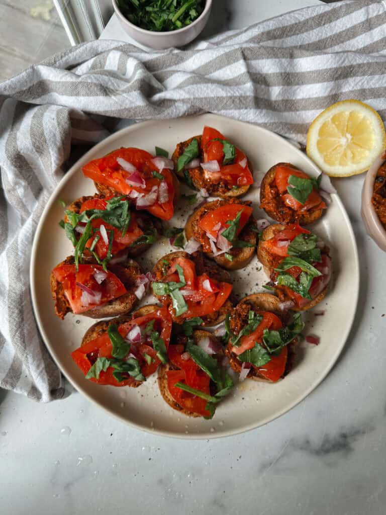
[[[323,214],[323,209],[314,209],[306,213],[297,213],[289,208],[280,199],[280,194],[275,185],[275,174],[277,166],[289,166],[297,170],[291,163],[277,163],[272,166],[261,181],[260,186],[260,209],[264,209],[268,216],[279,222],[279,224],[293,224],[299,222],[300,225],[309,225],[317,221]],[[270,200],[270,196],[274,200]]]

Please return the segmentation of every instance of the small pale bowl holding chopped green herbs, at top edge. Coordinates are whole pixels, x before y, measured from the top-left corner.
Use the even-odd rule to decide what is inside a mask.
[[[186,25],[186,27],[178,30],[170,30],[169,32],[154,32],[137,27],[121,13],[116,0],[113,0],[113,7],[122,28],[131,38],[138,41],[138,43],[150,46],[150,48],[162,50],[164,48],[176,48],[187,45],[190,41],[197,38],[208,21],[210,9],[212,9],[212,0],[206,0],[204,10],[190,25]]]

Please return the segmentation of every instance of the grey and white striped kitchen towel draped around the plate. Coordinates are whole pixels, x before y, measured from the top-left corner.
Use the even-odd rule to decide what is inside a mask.
[[[95,41],[0,83],[0,387],[43,402],[65,395],[34,322],[28,267],[72,146],[133,119],[205,111],[304,143],[312,119],[345,98],[385,119],[385,10],[366,0],[320,5],[184,50]]]

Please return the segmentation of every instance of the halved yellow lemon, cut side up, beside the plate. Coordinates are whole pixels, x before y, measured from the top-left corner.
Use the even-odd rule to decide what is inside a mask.
[[[307,155],[330,177],[361,174],[386,147],[379,114],[359,100],[332,104],[307,134]]]

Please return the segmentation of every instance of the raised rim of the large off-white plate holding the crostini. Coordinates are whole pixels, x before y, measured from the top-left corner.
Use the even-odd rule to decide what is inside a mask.
[[[329,365],[325,368],[323,373],[318,377],[317,380],[315,380],[314,383],[312,383],[308,388],[306,388],[304,391],[302,391],[302,393],[300,394],[299,398],[296,398],[293,402],[291,402],[288,405],[286,405],[286,407],[284,407],[283,409],[279,410],[274,415],[267,416],[264,419],[258,421],[257,423],[250,423],[250,424],[247,424],[247,425],[240,426],[237,429],[233,429],[233,430],[225,430],[224,429],[224,430],[221,430],[220,432],[216,432],[216,434],[210,433],[209,431],[208,431],[208,433],[201,433],[201,434],[194,434],[194,433],[176,434],[176,433],[173,433],[171,431],[160,430],[160,429],[157,429],[156,427],[153,428],[153,427],[149,427],[149,426],[147,426],[145,424],[141,424],[141,423],[137,423],[137,422],[133,422],[131,420],[128,420],[124,416],[119,415],[114,409],[109,408],[108,406],[104,406],[98,400],[94,399],[89,393],[87,393],[87,391],[85,391],[83,389],[83,387],[80,384],[77,383],[77,381],[75,379],[72,379],[71,374],[69,372],[67,373],[67,371],[64,369],[64,367],[62,367],[61,363],[59,362],[59,359],[56,358],[56,356],[55,356],[55,349],[51,347],[49,338],[48,338],[48,336],[47,336],[47,334],[45,332],[44,325],[42,323],[42,320],[41,320],[41,317],[40,317],[40,314],[39,314],[39,311],[38,311],[38,300],[37,300],[38,296],[37,296],[37,288],[36,288],[36,281],[35,281],[35,273],[36,273],[35,269],[36,269],[36,264],[37,264],[38,243],[39,243],[39,240],[40,240],[40,235],[41,235],[42,230],[43,230],[43,225],[44,225],[44,222],[45,222],[45,219],[46,219],[46,214],[51,209],[51,206],[52,206],[52,204],[55,201],[55,197],[57,196],[56,195],[57,192],[59,190],[61,190],[61,188],[69,180],[71,180],[71,178],[75,175],[76,171],[78,171],[79,168],[83,165],[84,161],[89,161],[90,159],[92,159],[89,156],[94,156],[95,153],[98,152],[98,149],[103,147],[104,145],[106,145],[107,142],[108,143],[112,143],[116,139],[120,139],[121,136],[125,136],[126,134],[135,131],[138,126],[144,127],[144,126],[147,126],[147,125],[151,125],[154,122],[162,122],[162,121],[166,122],[166,123],[172,123],[173,121],[181,120],[181,119],[185,119],[186,121],[188,121],[189,119],[192,119],[192,118],[197,119],[197,118],[208,117],[208,116],[212,117],[214,119],[214,121],[216,119],[220,119],[220,120],[224,120],[225,119],[226,121],[230,121],[232,123],[234,122],[236,124],[253,126],[255,129],[260,130],[263,133],[269,134],[270,137],[273,136],[274,139],[277,139],[278,143],[284,144],[284,145],[290,145],[296,152],[299,152],[299,154],[302,156],[302,158],[305,158],[306,161],[308,161],[308,163],[311,165],[311,167],[316,168],[317,170],[321,171],[319,166],[317,164],[315,164],[307,156],[307,154],[305,152],[303,152],[299,148],[296,148],[288,139],[284,138],[284,136],[280,136],[279,134],[277,134],[275,132],[272,132],[272,131],[264,128],[264,127],[260,127],[257,124],[252,124],[250,122],[245,122],[245,121],[237,120],[237,119],[230,118],[230,117],[227,117],[227,116],[222,116],[222,115],[218,115],[218,114],[214,114],[214,113],[202,113],[202,114],[199,114],[199,115],[180,116],[180,117],[177,117],[177,118],[170,118],[170,119],[168,118],[168,119],[164,119],[164,120],[163,119],[154,119],[154,120],[146,120],[144,122],[134,123],[134,124],[132,124],[132,125],[130,125],[128,127],[122,128],[122,129],[114,132],[113,134],[110,134],[109,136],[107,136],[107,138],[104,138],[103,140],[98,142],[91,149],[87,150],[87,152],[85,152],[71,166],[71,168],[69,168],[66,171],[64,176],[61,178],[59,183],[56,185],[54,190],[51,192],[51,194],[50,194],[50,196],[49,196],[49,198],[47,200],[47,203],[45,205],[45,208],[44,208],[44,210],[43,210],[43,212],[41,214],[41,217],[40,217],[40,220],[38,222],[36,231],[35,231],[35,233],[33,235],[33,241],[32,241],[32,247],[31,247],[31,256],[30,256],[30,262],[29,262],[29,286],[30,286],[31,303],[32,303],[33,314],[34,314],[36,323],[38,325],[40,336],[42,337],[44,345],[47,348],[51,358],[54,360],[54,362],[58,366],[60,372],[66,378],[66,380],[75,388],[76,391],[78,391],[79,393],[83,394],[83,396],[85,396],[87,400],[91,401],[93,404],[97,405],[100,409],[103,409],[104,411],[106,411],[107,413],[112,415],[114,418],[120,420],[122,423],[130,425],[131,427],[135,427],[138,430],[145,431],[145,432],[147,432],[149,434],[152,434],[152,435],[156,434],[156,435],[161,435],[161,436],[165,436],[165,437],[168,437],[168,438],[177,438],[177,439],[184,439],[184,440],[208,440],[208,439],[215,439],[215,438],[224,438],[224,437],[230,437],[230,436],[238,435],[238,434],[241,434],[241,433],[246,433],[248,431],[252,431],[253,429],[256,429],[258,427],[264,426],[264,425],[268,424],[269,422],[272,422],[273,420],[276,420],[279,417],[282,417],[283,415],[288,413],[288,411],[290,411],[292,408],[294,408],[297,404],[302,402],[306,397],[308,397],[309,394],[313,390],[315,390],[324,381],[324,379],[329,374],[331,369],[336,365],[336,363],[338,361],[338,358],[339,358],[341,352],[343,351],[343,348],[346,345],[346,341],[347,341],[348,335],[349,335],[350,331],[352,330],[354,319],[355,319],[355,316],[356,316],[356,313],[357,313],[357,310],[358,310],[358,299],[359,299],[359,289],[360,289],[359,255],[358,255],[358,246],[357,246],[354,230],[353,230],[351,221],[350,221],[350,219],[348,217],[347,211],[346,211],[346,209],[345,209],[345,207],[344,207],[340,197],[338,196],[338,194],[332,194],[334,196],[334,200],[338,203],[339,208],[340,208],[341,212],[343,213],[343,219],[344,219],[345,225],[346,225],[346,227],[348,229],[349,237],[350,237],[350,239],[351,239],[351,241],[353,243],[353,247],[354,247],[355,271],[356,271],[356,276],[358,278],[358,280],[356,281],[354,310],[353,310],[352,317],[351,317],[351,319],[349,321],[349,324],[347,325],[347,329],[346,329],[346,331],[343,334],[342,343],[337,348],[336,352],[334,353],[333,357],[331,358]]]

